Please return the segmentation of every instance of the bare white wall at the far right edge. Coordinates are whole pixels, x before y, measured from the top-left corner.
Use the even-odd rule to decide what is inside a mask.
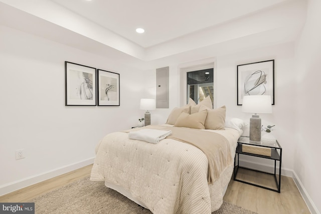
[[[308,192],[313,207],[321,211],[319,180],[321,177],[321,150],[319,121],[321,113],[321,1],[309,0],[306,24],[296,46],[296,82],[297,100],[295,105],[295,138],[293,165],[299,181]],[[309,198],[307,198],[309,199]]]

